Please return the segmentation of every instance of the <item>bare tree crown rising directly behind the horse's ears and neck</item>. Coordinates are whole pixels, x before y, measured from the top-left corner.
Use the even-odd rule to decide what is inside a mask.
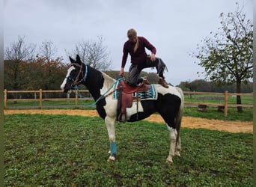
[[[71,56],[79,55],[85,64],[94,67],[97,70],[109,70],[111,61],[109,61],[109,52],[106,46],[103,46],[103,37],[97,37],[98,40],[86,40],[78,43]]]

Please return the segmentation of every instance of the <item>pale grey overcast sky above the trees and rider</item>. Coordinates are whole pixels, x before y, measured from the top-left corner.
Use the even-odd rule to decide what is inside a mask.
[[[197,52],[201,40],[213,37],[210,32],[220,27],[220,13],[237,10],[235,2],[252,19],[253,0],[4,0],[4,47],[18,36],[25,37],[26,44],[36,44],[37,50],[50,41],[58,49],[55,55],[69,63],[67,52],[76,44],[103,37],[111,70],[120,70],[127,30],[135,28],[167,65],[166,81],[179,85],[204,79],[197,73],[204,69],[189,54]],[[129,65],[128,58],[125,71]],[[145,71],[156,73],[151,68]]]

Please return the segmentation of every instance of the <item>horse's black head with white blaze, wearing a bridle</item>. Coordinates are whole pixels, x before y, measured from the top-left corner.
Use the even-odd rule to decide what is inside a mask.
[[[79,55],[76,55],[76,61],[70,57],[71,66],[67,70],[67,76],[61,84],[61,90],[64,93],[67,93],[71,90],[76,90],[77,85],[80,85],[82,82],[85,82],[86,79],[86,68],[84,72],[83,66],[85,64],[82,63]]]

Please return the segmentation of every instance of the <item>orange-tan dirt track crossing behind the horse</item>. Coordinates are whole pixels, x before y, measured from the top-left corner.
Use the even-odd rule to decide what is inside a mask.
[[[4,110],[4,114],[67,114],[81,116],[98,116],[95,110],[70,110],[70,109],[33,109],[33,110]],[[164,123],[159,114],[152,114],[145,120],[150,122]],[[207,120],[199,117],[183,117],[182,127],[193,129],[213,129],[222,132],[253,132],[252,121],[226,121],[226,120]]]

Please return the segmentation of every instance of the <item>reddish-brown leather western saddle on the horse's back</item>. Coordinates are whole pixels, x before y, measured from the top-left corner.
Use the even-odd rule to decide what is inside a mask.
[[[139,94],[140,92],[146,92],[150,89],[150,85],[145,84],[145,82],[141,82],[141,85],[138,87],[132,87],[127,82],[121,80],[118,84],[118,117],[117,120],[121,122],[127,121],[127,108],[132,107],[132,102],[137,102],[137,114],[138,114],[138,101],[140,100]],[[137,94],[134,94],[137,93]],[[135,95],[135,96],[134,96]],[[124,115],[124,119],[122,117]]]

